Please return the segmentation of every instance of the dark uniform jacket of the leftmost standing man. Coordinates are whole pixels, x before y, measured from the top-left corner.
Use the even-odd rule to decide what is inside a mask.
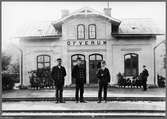
[[[55,81],[56,85],[64,85],[64,77],[66,76],[66,70],[63,66],[54,66],[52,68],[52,79]]]

